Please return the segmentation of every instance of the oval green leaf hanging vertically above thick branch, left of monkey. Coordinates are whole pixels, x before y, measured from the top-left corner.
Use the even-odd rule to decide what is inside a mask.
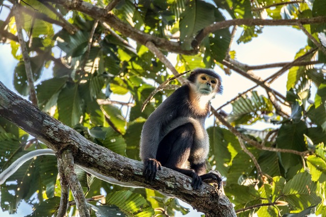
[[[75,83],[67,85],[61,90],[58,98],[59,120],[69,127],[75,126],[83,115],[83,106],[78,85]]]

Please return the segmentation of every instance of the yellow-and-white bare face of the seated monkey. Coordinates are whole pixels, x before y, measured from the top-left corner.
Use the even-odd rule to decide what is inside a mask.
[[[197,76],[196,88],[199,94],[210,95],[212,92],[216,92],[217,85],[218,79],[212,76],[204,73]]]

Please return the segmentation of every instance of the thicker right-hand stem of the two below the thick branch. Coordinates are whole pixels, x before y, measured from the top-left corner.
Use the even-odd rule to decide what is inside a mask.
[[[73,197],[75,198],[76,205],[80,216],[90,217],[87,201],[77,175],[74,171],[74,160],[70,150],[64,150],[62,153],[63,168],[65,171],[66,180],[69,183]]]

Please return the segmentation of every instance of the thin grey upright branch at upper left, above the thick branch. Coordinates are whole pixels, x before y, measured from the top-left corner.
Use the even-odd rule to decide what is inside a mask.
[[[32,67],[31,67],[31,60],[30,60],[29,52],[26,48],[26,43],[25,43],[23,35],[22,35],[22,23],[21,23],[21,12],[19,11],[19,8],[20,8],[19,0],[18,1],[14,0],[13,3],[14,3],[13,10],[14,10],[15,20],[16,20],[17,36],[18,36],[18,41],[19,41],[20,48],[21,48],[22,58],[24,61],[27,82],[28,82],[29,89],[30,89],[30,98],[31,98],[33,105],[38,106],[36,90],[34,87],[34,77],[33,77],[33,71],[32,71]]]

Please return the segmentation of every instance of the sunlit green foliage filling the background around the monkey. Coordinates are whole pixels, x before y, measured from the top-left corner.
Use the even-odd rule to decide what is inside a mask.
[[[85,2],[104,8],[115,1]],[[1,1],[2,8],[10,5],[8,10],[12,10],[12,3]],[[197,36],[203,28],[224,23],[226,17],[286,20],[326,16],[324,0],[283,3],[281,0],[124,0],[110,13],[123,25],[159,37],[162,43],[177,40],[181,51],[174,51],[177,54],[175,69],[179,73],[197,67],[219,66],[229,74],[223,65],[225,60],[230,60],[229,55],[235,56],[234,51],[229,51],[231,29],[214,30],[198,42]],[[172,77],[162,59],[135,40],[131,33],[124,35],[102,21],[91,34],[97,20],[78,10],[68,11],[60,4],[37,0],[21,1],[21,7],[39,108],[94,143],[139,160],[143,123],[172,92],[168,89],[158,92],[141,112],[155,87]],[[0,13],[3,12],[0,10]],[[0,34],[8,39],[4,42],[10,44],[12,55],[18,60],[13,72],[14,88],[26,97],[30,94],[26,63],[21,59],[13,15],[9,13],[6,20],[0,21]],[[237,43],[250,43],[259,37],[263,27],[241,26],[242,34]],[[317,41],[318,34],[326,32],[324,23],[304,27]],[[197,42],[198,46],[194,47]],[[266,179],[261,179],[253,159],[241,149],[233,133],[220,123],[208,129],[208,163],[226,180],[226,195],[235,209],[240,210],[239,216],[254,213],[304,216],[313,212],[326,216],[326,78],[321,67],[326,58],[320,51],[318,55],[309,53],[316,47],[311,40],[302,47],[294,58],[304,56],[305,61],[317,58],[319,65],[289,69],[286,99],[281,101],[291,108],[288,115],[282,115],[275,101],[267,95],[251,91],[232,101],[232,112],[227,120],[242,134],[263,142],[264,147],[308,151],[309,154],[303,157],[269,151],[247,142],[247,149],[266,175]],[[161,51],[166,55],[172,53],[170,47]],[[49,66],[52,76],[41,80],[43,70]],[[180,85],[176,80],[170,84]],[[316,92],[311,91],[314,86]],[[115,100],[117,96],[127,100]],[[271,129],[254,133],[246,128],[255,122],[273,124],[277,132],[266,138]],[[45,147],[3,117],[0,117],[0,144],[1,171],[24,153]],[[1,186],[1,208],[15,213],[24,200],[35,209],[30,216],[56,214],[61,194],[56,164],[55,157],[41,156],[19,168]],[[106,194],[102,205],[90,202],[93,216],[152,216],[155,213],[174,216],[176,212],[188,212],[176,199],[158,192],[119,187],[90,177],[84,171],[76,171],[87,198],[100,195],[100,190]],[[252,206],[254,208],[250,208]],[[73,208],[72,215],[75,214]]]

